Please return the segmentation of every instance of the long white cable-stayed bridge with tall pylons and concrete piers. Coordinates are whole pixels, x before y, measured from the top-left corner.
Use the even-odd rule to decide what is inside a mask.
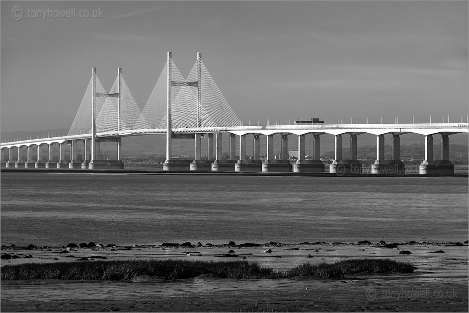
[[[449,136],[469,133],[468,123],[426,124],[333,124],[295,123],[295,125],[243,126],[236,117],[214,79],[202,62],[202,54],[189,75],[184,78],[168,52],[155,87],[143,110],[140,110],[125,82],[122,70],[109,92],[103,88],[92,69],[92,76],[67,135],[53,138],[34,138],[1,143],[1,161],[6,167],[46,168],[123,168],[121,161],[122,137],[148,134],[166,134],[165,170],[230,170],[230,171],[295,171],[322,172],[320,161],[320,135],[335,136],[334,162],[330,171],[360,173],[357,160],[357,136],[377,136],[377,159],[372,166],[375,173],[403,173],[400,160],[399,136],[407,133],[425,135],[425,160],[420,173],[452,174],[454,166],[448,160]],[[222,134],[229,134],[229,160],[222,160]],[[281,134],[278,157],[274,156],[273,135]],[[313,156],[306,159],[305,135],[313,134]],[[384,157],[385,134],[392,135],[392,159]],[[246,157],[246,135],[253,136],[253,158]],[[267,137],[266,157],[260,160],[260,136]],[[288,136],[298,136],[298,161],[288,160]],[[342,136],[350,135],[350,159],[342,159]],[[433,136],[441,135],[440,156],[433,154]],[[207,137],[208,160],[202,160],[201,140]],[[214,138],[215,136],[215,138]],[[238,151],[235,151],[238,136]],[[194,160],[174,159],[171,143],[174,139],[194,139]],[[114,160],[100,159],[100,143],[116,142]],[[70,146],[70,159],[65,159],[66,146]],[[47,147],[47,160],[43,160]],[[77,159],[81,148],[82,159]],[[14,153],[16,150],[16,154]],[[22,151],[26,150],[24,160]],[[235,156],[238,154],[239,159]],[[7,158],[7,161],[6,161]],[[435,160],[438,158],[438,160]],[[3,164],[3,163],[2,163]]]

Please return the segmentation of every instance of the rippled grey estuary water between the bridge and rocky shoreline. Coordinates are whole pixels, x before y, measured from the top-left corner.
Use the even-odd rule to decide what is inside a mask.
[[[465,241],[468,179],[1,173],[1,244]]]

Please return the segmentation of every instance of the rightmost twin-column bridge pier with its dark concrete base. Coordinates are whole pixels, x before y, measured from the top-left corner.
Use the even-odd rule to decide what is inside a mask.
[[[431,137],[431,139],[429,137]],[[428,175],[453,175],[454,165],[451,164],[449,160],[449,144],[448,135],[441,134],[440,160],[432,160],[430,156],[433,158],[433,137],[431,135],[425,136],[425,160],[419,165],[419,173]]]

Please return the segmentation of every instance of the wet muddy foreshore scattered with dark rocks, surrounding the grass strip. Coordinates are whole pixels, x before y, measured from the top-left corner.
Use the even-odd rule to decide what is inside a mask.
[[[271,253],[264,252],[271,249]],[[233,251],[230,251],[233,250]],[[65,252],[67,251],[67,252]],[[401,254],[410,251],[410,254]],[[439,252],[437,252],[439,251]],[[441,252],[443,251],[443,252]],[[6,254],[13,258],[3,258]],[[1,312],[467,312],[468,245],[415,242],[397,247],[313,243],[93,248],[1,247],[1,266],[21,263],[179,258],[245,259],[278,270],[306,262],[391,258],[411,274],[332,279],[234,280],[210,277],[150,281],[1,281]],[[27,256],[27,257],[25,257]]]

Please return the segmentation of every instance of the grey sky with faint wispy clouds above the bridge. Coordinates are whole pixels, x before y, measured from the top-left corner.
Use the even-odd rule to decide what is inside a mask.
[[[106,89],[122,68],[142,109],[167,51],[184,77],[202,52],[244,125],[468,115],[468,1],[1,1],[0,8],[2,133],[70,128],[92,67]],[[98,16],[34,17],[73,8]]]

